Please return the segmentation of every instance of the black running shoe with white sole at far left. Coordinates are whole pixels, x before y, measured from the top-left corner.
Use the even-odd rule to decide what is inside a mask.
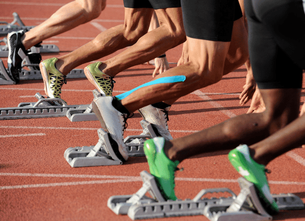
[[[8,34],[8,74],[16,83],[19,82],[22,60],[26,57],[26,50],[21,42],[24,31],[11,32]]]

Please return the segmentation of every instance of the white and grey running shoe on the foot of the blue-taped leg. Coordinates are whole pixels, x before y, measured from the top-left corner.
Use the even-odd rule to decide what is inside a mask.
[[[124,143],[124,130],[126,129],[127,114],[120,113],[114,106],[115,97],[98,97],[92,102],[93,112],[99,119],[102,128],[110,134],[112,138],[112,149],[116,156],[125,161],[128,159],[126,145]]]

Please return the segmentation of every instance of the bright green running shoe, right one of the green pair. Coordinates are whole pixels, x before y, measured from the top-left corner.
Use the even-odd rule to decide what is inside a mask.
[[[264,165],[255,162],[247,145],[239,145],[229,153],[229,160],[236,171],[256,187],[260,201],[265,210],[270,214],[279,212],[279,207],[270,194]]]

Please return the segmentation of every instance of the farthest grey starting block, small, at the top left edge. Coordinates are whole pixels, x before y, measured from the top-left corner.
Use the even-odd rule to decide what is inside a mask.
[[[4,25],[0,25],[0,36],[6,36],[10,32],[17,32],[20,30],[28,31],[30,29],[33,29],[33,27],[35,27],[35,26],[25,26],[16,12],[13,13],[13,17],[14,20],[11,23],[6,21],[0,21],[0,24],[4,24]]]

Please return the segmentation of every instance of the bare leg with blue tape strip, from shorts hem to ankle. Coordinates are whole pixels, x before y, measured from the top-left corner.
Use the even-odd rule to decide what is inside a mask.
[[[168,100],[177,99],[221,80],[230,42],[215,42],[189,37],[187,39],[190,62],[169,69],[162,76],[156,77],[184,75],[186,80],[138,89],[121,100],[130,113],[146,105],[160,102],[164,97]]]

